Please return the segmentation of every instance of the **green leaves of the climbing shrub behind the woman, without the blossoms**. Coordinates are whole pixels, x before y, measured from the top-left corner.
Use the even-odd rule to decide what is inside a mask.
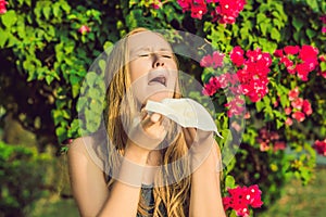
[[[82,5],[67,0],[9,0],[8,12],[0,15],[0,105],[24,117],[21,120],[25,127],[48,142],[61,143],[82,132],[97,130],[103,108],[106,66],[98,62],[100,72],[87,71],[104,49],[137,26],[189,31],[205,38],[224,53],[240,46],[243,50],[261,48],[273,54],[289,44],[311,44],[319,53],[326,52],[326,35],[321,31],[319,20],[326,13],[324,1],[247,0],[237,22],[226,26],[205,17],[193,20],[189,13],[181,12],[176,1],[163,1],[158,10],[153,9],[153,2],[97,0]],[[83,25],[89,28],[88,33],[78,31]],[[195,49],[199,47],[192,44]],[[197,49],[197,52],[205,54],[206,51]],[[180,66],[203,82],[216,73],[183,59]],[[308,183],[315,165],[311,144],[326,135],[325,78],[314,71],[304,82],[289,75],[275,59],[271,69],[268,94],[256,103],[246,101],[251,117],[246,123],[237,120],[244,133],[236,157],[224,170],[225,187],[259,183],[266,207],[280,195],[278,184],[289,176]],[[325,72],[325,62],[321,69]],[[301,97],[311,101],[313,114],[302,124],[286,126],[284,108],[290,105],[288,92],[294,87],[299,87]],[[216,125],[224,137],[217,139],[221,148],[237,138],[237,132],[229,129],[230,118],[223,106],[226,100],[226,94],[213,98]],[[85,117],[78,117],[78,113]],[[39,123],[38,127],[35,123]],[[261,152],[256,137],[263,127],[277,131],[288,150]],[[235,148],[229,149],[227,153]]]

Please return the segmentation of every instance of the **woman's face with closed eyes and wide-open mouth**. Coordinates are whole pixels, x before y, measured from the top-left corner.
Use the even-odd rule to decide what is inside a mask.
[[[129,36],[131,90],[142,105],[147,100],[173,98],[177,87],[177,64],[167,41],[142,31]]]

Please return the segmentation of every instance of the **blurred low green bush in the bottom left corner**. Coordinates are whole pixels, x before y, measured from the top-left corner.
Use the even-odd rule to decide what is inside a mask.
[[[0,141],[0,215],[25,216],[28,205],[45,195],[50,155]],[[43,171],[43,173],[41,173]]]

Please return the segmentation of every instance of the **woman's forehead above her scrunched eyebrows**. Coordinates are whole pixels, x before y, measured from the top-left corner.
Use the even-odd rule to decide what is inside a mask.
[[[151,31],[142,31],[129,36],[128,48],[130,52],[138,49],[172,50],[170,43],[162,36]]]

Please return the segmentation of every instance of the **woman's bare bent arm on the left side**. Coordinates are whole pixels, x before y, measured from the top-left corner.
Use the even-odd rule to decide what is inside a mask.
[[[151,117],[152,122],[149,122],[148,118],[145,120],[147,123],[143,126],[146,132],[156,135],[158,130],[163,130],[161,123],[158,122],[158,116]],[[150,150],[140,148],[128,140],[125,149],[125,157],[128,161],[122,163],[118,176],[120,180],[130,180],[131,178],[133,184],[117,180],[109,193],[103,171],[90,158],[85,146],[87,144],[84,143],[85,140],[91,142],[90,138],[76,139],[68,151],[71,184],[80,215],[90,217],[136,216],[143,167],[135,167],[129,161],[138,165],[146,165]]]

